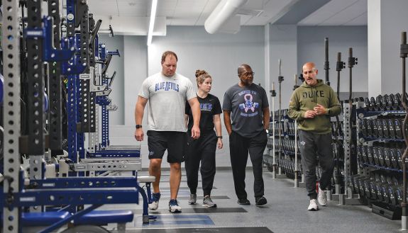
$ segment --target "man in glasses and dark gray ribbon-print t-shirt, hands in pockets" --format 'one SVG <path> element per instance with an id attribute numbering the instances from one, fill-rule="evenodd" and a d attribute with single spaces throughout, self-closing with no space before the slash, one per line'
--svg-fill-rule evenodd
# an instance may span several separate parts
<path id="1" fill-rule="evenodd" d="M 238 67 L 240 81 L 224 95 L 224 123 L 229 135 L 229 152 L 233 183 L 238 204 L 250 205 L 245 191 L 248 152 L 255 178 L 253 190 L 255 205 L 267 203 L 264 195 L 262 162 L 263 151 L 268 143 L 266 129 L 269 127 L 269 103 L 265 89 L 253 84 L 253 71 L 248 64 Z M 232 119 L 232 123 L 231 123 Z"/>

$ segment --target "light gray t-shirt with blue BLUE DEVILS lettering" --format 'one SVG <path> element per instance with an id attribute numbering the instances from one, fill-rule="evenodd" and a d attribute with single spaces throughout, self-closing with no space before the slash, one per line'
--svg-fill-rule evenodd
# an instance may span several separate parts
<path id="1" fill-rule="evenodd" d="M 148 127 L 155 131 L 186 132 L 186 100 L 196 98 L 192 82 L 181 74 L 172 77 L 161 72 L 143 81 L 139 96 L 148 98 Z"/>

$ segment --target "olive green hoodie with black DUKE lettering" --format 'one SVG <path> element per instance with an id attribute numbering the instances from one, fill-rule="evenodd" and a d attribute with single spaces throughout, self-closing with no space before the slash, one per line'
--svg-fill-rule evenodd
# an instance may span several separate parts
<path id="1" fill-rule="evenodd" d="M 307 110 L 313 110 L 317 103 L 326 108 L 326 115 L 304 118 L 304 113 Z M 336 93 L 330 86 L 324 84 L 323 80 L 317 79 L 317 84 L 314 86 L 309 86 L 304 81 L 294 90 L 290 98 L 288 115 L 293 120 L 297 120 L 299 130 L 326 134 L 331 132 L 330 117 L 340 112 Z"/>

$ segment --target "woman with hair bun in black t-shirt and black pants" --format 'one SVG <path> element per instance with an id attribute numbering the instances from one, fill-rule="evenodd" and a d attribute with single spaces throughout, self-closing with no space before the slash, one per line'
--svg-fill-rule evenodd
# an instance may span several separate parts
<path id="1" fill-rule="evenodd" d="M 197 202 L 198 171 L 201 161 L 200 171 L 202 174 L 202 188 L 204 192 L 203 206 L 216 208 L 216 204 L 213 203 L 210 196 L 216 170 L 216 147 L 221 149 L 223 146 L 220 118 L 222 109 L 219 98 L 209 93 L 209 91 L 211 91 L 211 76 L 204 70 L 197 70 L 196 77 L 198 86 L 197 98 L 201 109 L 199 124 L 201 136 L 197 140 L 193 140 L 190 136 L 193 117 L 191 108 L 186 104 L 187 135 L 189 135 L 189 137 L 187 137 L 185 168 L 187 184 L 190 189 L 189 204 L 194 205 Z"/>

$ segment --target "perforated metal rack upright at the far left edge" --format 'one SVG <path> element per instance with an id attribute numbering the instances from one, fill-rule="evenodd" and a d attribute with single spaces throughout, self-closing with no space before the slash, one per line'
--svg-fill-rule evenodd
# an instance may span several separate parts
<path id="1" fill-rule="evenodd" d="M 4 61 L 4 193 L 5 200 L 19 191 L 20 171 L 20 45 L 18 31 L 18 1 L 3 1 L 1 45 Z M 10 193 L 9 193 L 10 191 Z M 3 232 L 17 233 L 20 221 L 19 208 L 3 208 Z"/>

